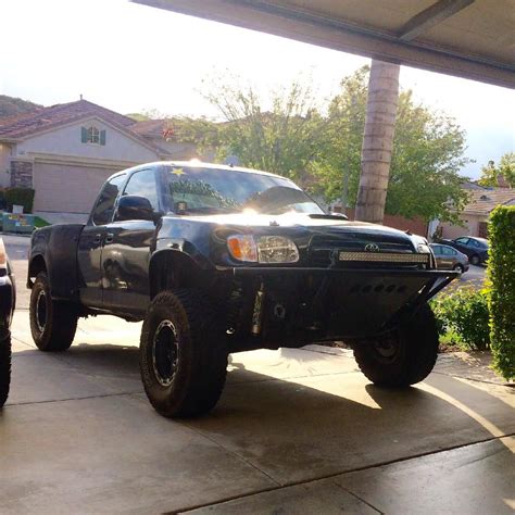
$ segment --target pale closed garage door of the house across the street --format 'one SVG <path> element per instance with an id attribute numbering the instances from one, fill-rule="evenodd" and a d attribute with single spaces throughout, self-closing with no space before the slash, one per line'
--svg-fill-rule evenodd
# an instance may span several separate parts
<path id="1" fill-rule="evenodd" d="M 100 187 L 117 168 L 34 164 L 34 211 L 89 213 Z"/>

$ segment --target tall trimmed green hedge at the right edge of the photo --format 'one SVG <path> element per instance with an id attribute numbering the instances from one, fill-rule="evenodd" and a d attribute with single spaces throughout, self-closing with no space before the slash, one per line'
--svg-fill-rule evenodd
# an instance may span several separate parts
<path id="1" fill-rule="evenodd" d="M 493 367 L 515 378 L 515 205 L 500 205 L 490 216 L 487 274 Z"/>

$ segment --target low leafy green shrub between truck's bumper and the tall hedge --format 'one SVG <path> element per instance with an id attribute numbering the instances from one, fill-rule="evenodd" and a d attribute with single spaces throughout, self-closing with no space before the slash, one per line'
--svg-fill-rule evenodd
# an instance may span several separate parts
<path id="1" fill-rule="evenodd" d="M 482 351 L 490 347 L 488 296 L 485 290 L 461 288 L 431 301 L 440 336 L 456 335 L 466 349 Z"/>

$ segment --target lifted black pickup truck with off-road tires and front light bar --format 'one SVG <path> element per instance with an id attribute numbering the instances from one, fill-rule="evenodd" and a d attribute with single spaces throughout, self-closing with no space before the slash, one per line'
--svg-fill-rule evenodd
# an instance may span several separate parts
<path id="1" fill-rule="evenodd" d="M 285 177 L 194 162 L 113 175 L 88 223 L 37 230 L 29 260 L 37 347 L 67 349 L 80 316 L 143 321 L 141 378 L 165 416 L 210 411 L 242 350 L 343 340 L 375 384 L 420 381 L 438 351 L 427 301 L 457 275 Z"/>

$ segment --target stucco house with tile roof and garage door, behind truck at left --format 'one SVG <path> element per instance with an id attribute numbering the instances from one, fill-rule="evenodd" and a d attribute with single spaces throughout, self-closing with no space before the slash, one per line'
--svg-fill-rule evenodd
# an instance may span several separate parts
<path id="1" fill-rule="evenodd" d="M 113 173 L 197 156 L 193 146 L 166 141 L 163 127 L 164 121 L 135 122 L 83 99 L 1 118 L 0 187 L 34 188 L 34 211 L 49 219 L 85 217 Z"/>

